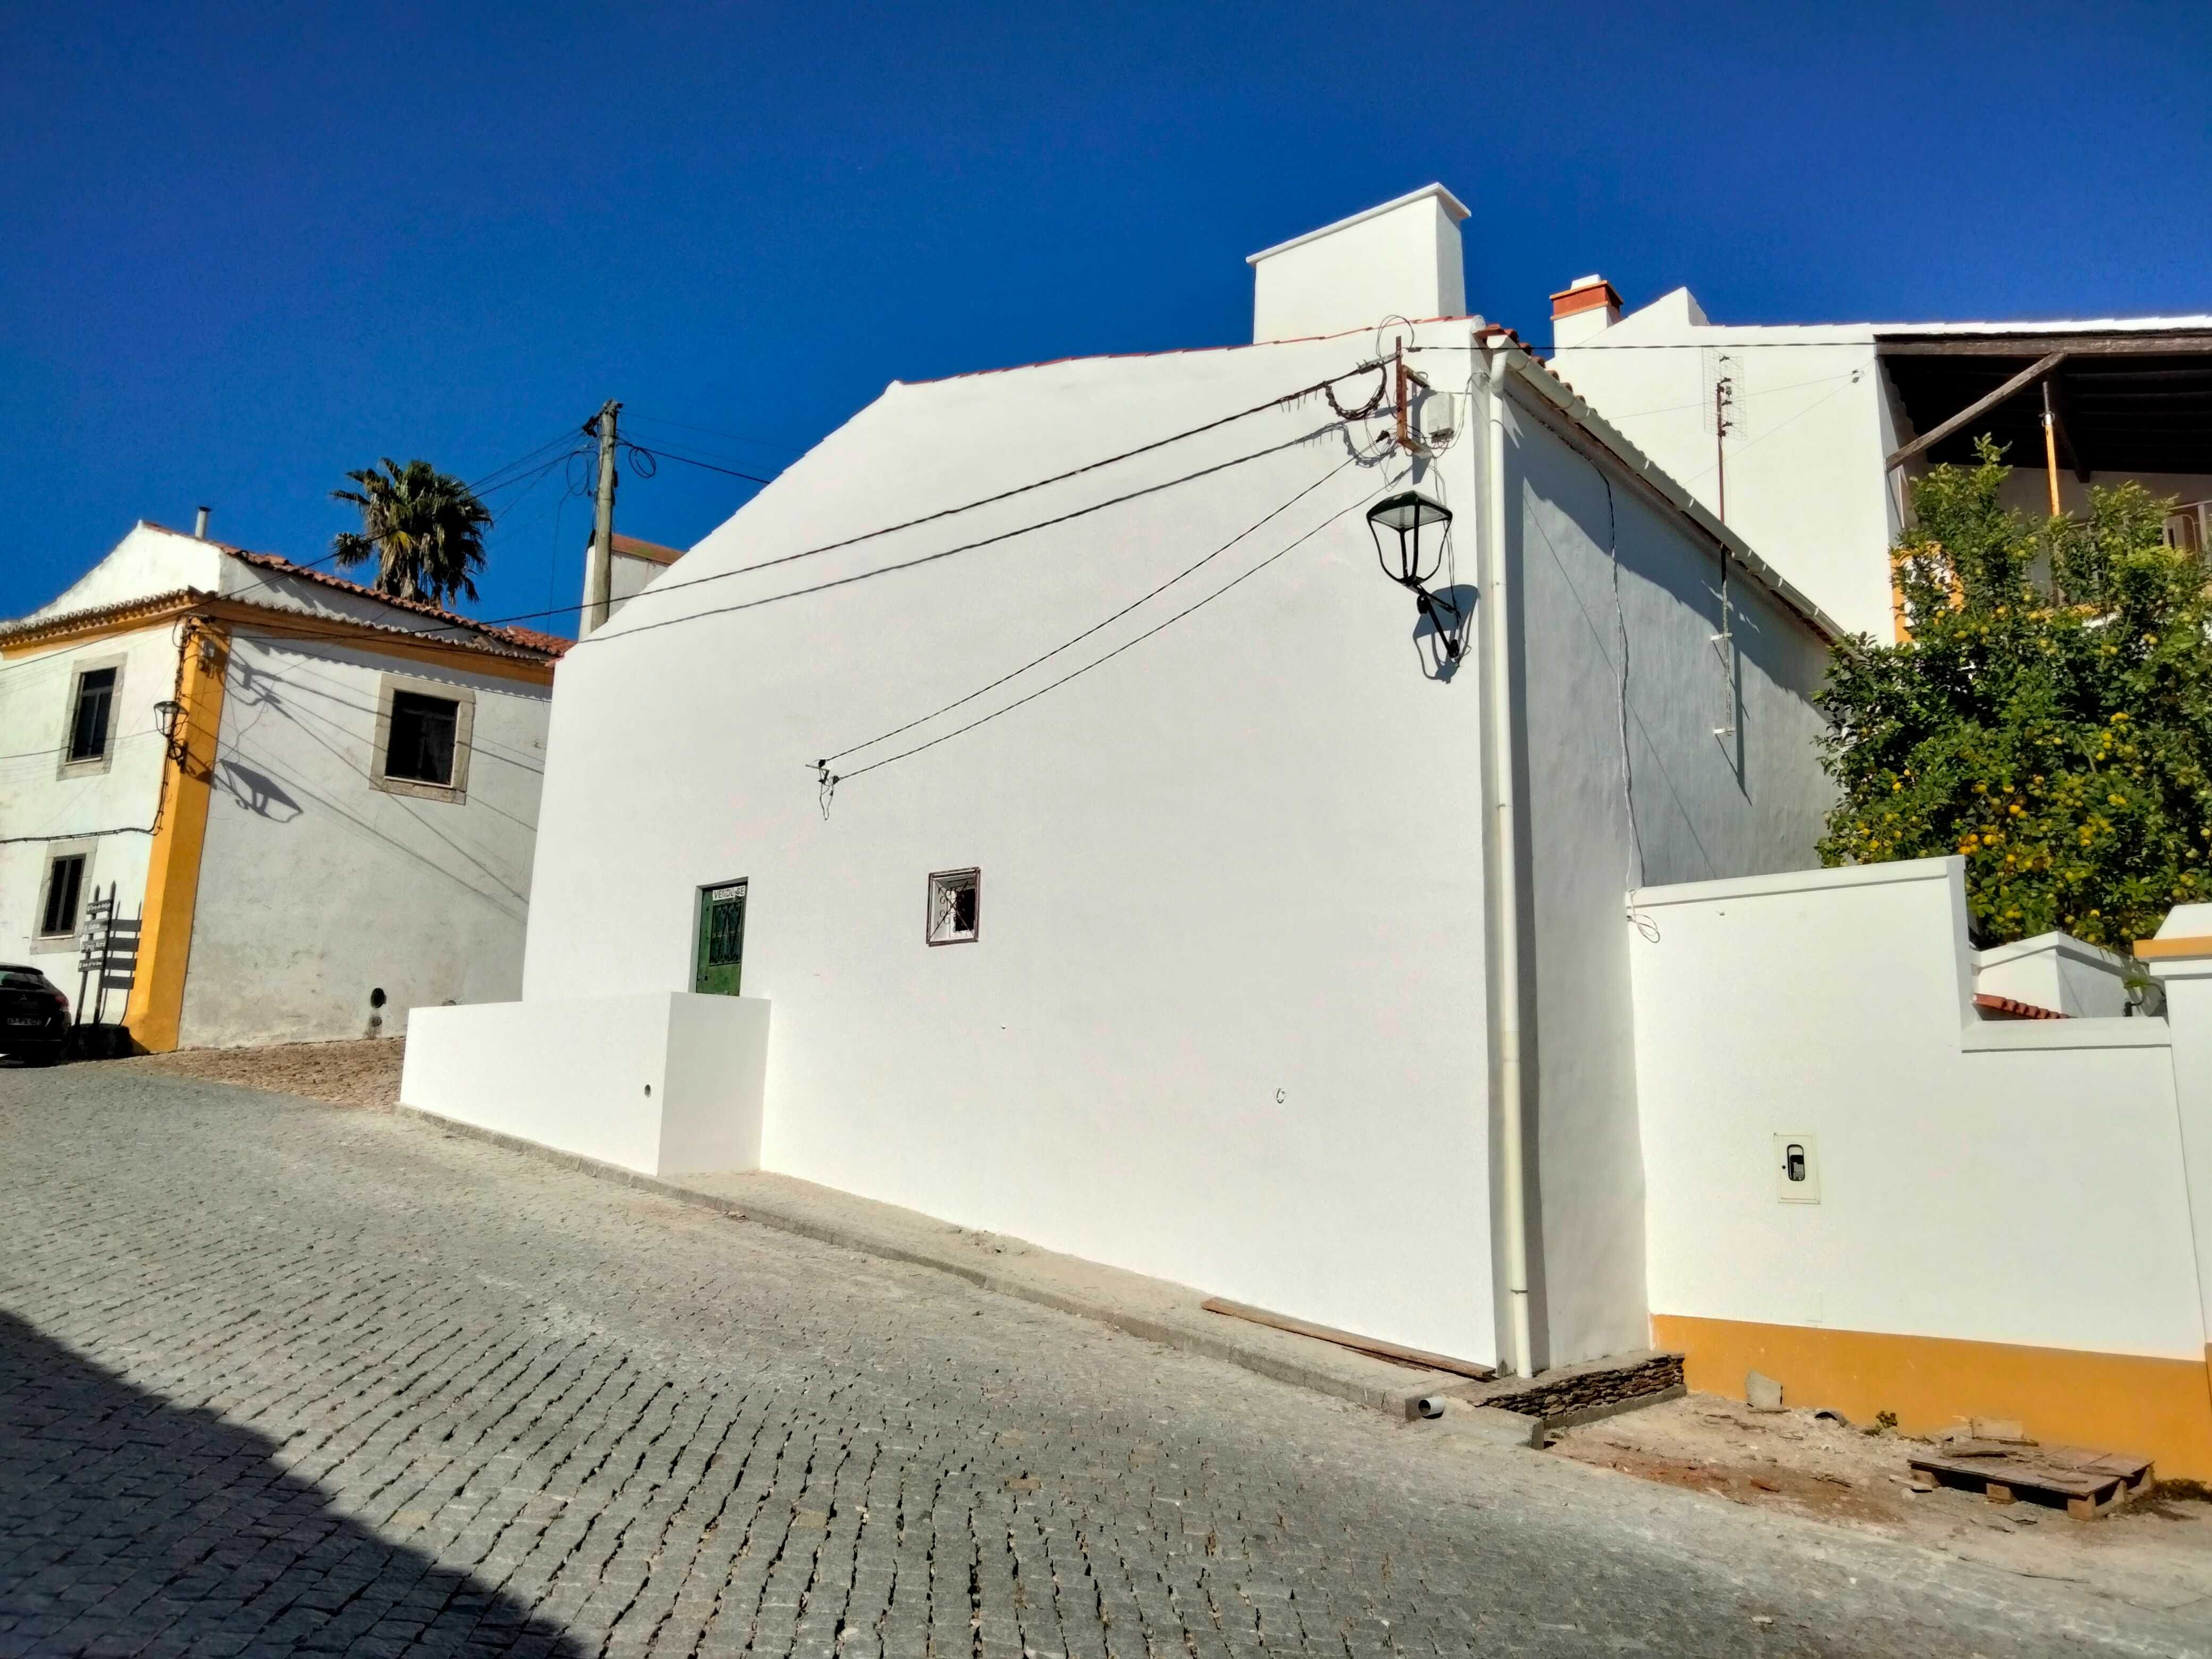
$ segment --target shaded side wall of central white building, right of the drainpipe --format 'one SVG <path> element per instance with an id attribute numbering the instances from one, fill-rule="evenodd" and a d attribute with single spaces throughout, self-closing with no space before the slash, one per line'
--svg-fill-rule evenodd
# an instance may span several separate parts
<path id="1" fill-rule="evenodd" d="M 1588 442 L 1509 409 L 1533 1000 L 1533 1325 L 1544 1363 L 1644 1345 L 1630 887 L 1803 869 L 1834 790 L 1814 739 L 1823 637 Z M 1610 504 L 1606 484 L 1610 482 Z M 1613 546 L 1619 549 L 1615 602 Z M 1628 781 L 1624 787 L 1621 630 Z M 1734 726 L 1734 737 L 1714 728 Z M 1635 801 L 1630 827 L 1628 796 Z"/>

